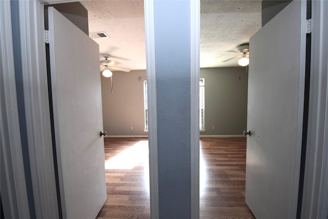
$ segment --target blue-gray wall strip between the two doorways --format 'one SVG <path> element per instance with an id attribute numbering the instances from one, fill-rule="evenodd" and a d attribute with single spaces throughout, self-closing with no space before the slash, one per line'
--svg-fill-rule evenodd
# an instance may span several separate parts
<path id="1" fill-rule="evenodd" d="M 159 218 L 191 217 L 190 4 L 154 1 Z"/>

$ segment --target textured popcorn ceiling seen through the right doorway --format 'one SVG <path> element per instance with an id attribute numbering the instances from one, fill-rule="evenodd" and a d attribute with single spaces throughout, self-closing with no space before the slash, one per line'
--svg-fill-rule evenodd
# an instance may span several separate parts
<path id="1" fill-rule="evenodd" d="M 238 55 L 260 28 L 261 1 L 201 1 L 200 67 L 238 66 L 238 58 L 222 61 Z"/>

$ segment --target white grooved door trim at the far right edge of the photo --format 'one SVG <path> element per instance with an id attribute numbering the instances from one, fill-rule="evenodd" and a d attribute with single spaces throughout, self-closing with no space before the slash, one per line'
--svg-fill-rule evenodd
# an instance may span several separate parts
<path id="1" fill-rule="evenodd" d="M 301 218 L 328 216 L 328 2 L 312 1 L 311 84 Z M 313 24 L 312 24 L 313 25 Z M 313 28 L 313 27 L 312 27 Z"/>

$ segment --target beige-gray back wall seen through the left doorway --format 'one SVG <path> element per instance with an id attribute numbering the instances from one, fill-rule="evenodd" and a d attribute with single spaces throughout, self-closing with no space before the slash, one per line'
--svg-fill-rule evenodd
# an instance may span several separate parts
<path id="1" fill-rule="evenodd" d="M 144 81 L 146 70 L 113 71 L 111 79 L 101 75 L 104 130 L 108 135 L 148 135 L 144 132 Z M 133 130 L 130 127 L 133 127 Z"/>

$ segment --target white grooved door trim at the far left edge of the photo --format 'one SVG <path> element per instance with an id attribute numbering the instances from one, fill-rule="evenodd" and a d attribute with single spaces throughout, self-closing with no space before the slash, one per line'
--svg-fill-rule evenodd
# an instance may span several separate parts
<path id="1" fill-rule="evenodd" d="M 0 1 L 1 186 L 5 217 L 30 218 L 17 108 L 10 1 Z"/>

